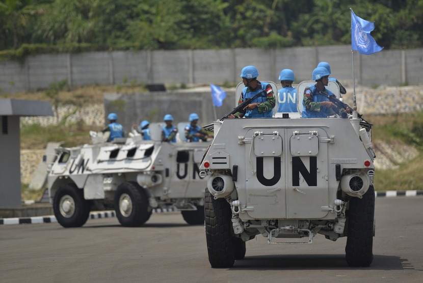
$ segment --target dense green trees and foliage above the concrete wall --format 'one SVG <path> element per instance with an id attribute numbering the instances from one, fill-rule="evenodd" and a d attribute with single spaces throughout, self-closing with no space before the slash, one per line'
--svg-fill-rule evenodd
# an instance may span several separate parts
<path id="1" fill-rule="evenodd" d="M 384 48 L 423 46 L 423 0 L 0 0 L 0 50 L 350 44 L 350 7 Z"/>

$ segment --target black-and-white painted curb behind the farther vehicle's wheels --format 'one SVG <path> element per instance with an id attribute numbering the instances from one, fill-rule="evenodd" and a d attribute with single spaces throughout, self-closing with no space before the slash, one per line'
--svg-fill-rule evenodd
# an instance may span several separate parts
<path id="1" fill-rule="evenodd" d="M 166 213 L 178 211 L 176 208 L 156 208 L 153 209 L 152 214 L 155 213 Z M 88 219 L 100 219 L 100 218 L 111 218 L 116 217 L 114 210 L 91 212 Z M 53 223 L 57 222 L 56 216 L 35 216 L 35 217 L 14 217 L 14 218 L 0 218 L 0 225 L 10 224 L 39 224 L 39 223 Z"/>

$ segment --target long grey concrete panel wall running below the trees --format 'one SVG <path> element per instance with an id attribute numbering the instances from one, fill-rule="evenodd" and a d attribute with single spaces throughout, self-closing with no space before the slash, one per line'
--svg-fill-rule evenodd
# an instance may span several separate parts
<path id="1" fill-rule="evenodd" d="M 45 89 L 67 79 L 70 86 L 127 82 L 164 84 L 223 84 L 240 81 L 246 65 L 258 68 L 261 80 L 277 81 L 282 69 L 294 70 L 296 80 L 308 80 L 321 62 L 331 64 L 332 77 L 351 84 L 350 45 L 283 49 L 142 50 L 40 54 L 23 63 L 0 62 L 1 93 Z M 423 49 L 355 52 L 356 83 L 398 86 L 423 82 Z"/>

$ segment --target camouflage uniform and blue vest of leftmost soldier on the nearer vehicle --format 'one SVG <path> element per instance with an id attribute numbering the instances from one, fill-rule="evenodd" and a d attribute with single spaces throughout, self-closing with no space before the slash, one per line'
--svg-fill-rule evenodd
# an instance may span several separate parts
<path id="1" fill-rule="evenodd" d="M 265 118 L 265 117 L 272 117 L 272 109 L 276 105 L 276 98 L 273 93 L 272 87 L 268 83 L 263 83 L 257 80 L 257 87 L 254 90 L 251 90 L 250 87 L 246 87 L 243 89 L 241 93 L 240 100 L 238 101 L 238 105 L 244 102 L 244 95 L 248 97 L 254 96 L 261 90 L 266 90 L 267 96 L 265 97 L 257 97 L 251 103 L 259 103 L 257 108 L 253 110 L 247 110 L 243 112 L 236 112 L 234 116 L 236 118 Z M 252 94 L 251 94 L 252 93 Z"/>

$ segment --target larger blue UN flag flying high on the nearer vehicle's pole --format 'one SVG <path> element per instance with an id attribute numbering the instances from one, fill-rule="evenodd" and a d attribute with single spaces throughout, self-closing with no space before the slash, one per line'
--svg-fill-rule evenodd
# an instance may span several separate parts
<path id="1" fill-rule="evenodd" d="M 351 49 L 361 54 L 373 54 L 382 50 L 370 32 L 375 29 L 375 23 L 357 17 L 351 9 Z"/>

